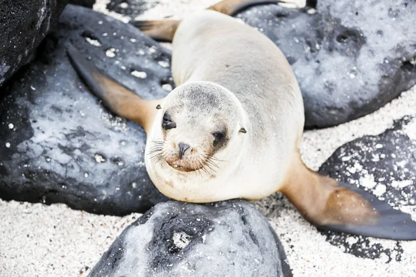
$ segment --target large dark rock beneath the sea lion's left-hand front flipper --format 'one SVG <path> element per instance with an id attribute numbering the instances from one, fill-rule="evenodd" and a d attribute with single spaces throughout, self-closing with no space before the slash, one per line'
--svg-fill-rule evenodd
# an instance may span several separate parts
<path id="1" fill-rule="evenodd" d="M 170 53 L 137 28 L 79 6 L 65 8 L 58 29 L 0 101 L 0 197 L 93 213 L 147 211 L 166 197 L 144 166 L 146 134 L 103 108 L 64 44 L 146 99 L 173 86 Z"/>

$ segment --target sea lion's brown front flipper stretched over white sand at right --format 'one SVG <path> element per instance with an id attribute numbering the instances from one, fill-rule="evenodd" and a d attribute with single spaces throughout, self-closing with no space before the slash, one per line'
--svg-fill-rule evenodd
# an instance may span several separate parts
<path id="1" fill-rule="evenodd" d="M 303 165 L 303 164 L 302 164 Z M 392 240 L 416 240 L 416 222 L 371 193 L 303 168 L 281 190 L 319 229 Z"/>

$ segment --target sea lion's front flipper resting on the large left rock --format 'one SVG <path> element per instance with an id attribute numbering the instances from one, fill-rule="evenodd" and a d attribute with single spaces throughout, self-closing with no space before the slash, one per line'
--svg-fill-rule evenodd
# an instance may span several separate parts
<path id="1" fill-rule="evenodd" d="M 78 51 L 67 45 L 69 60 L 87 87 L 114 114 L 139 123 L 146 132 L 150 130 L 157 113 L 157 105 L 163 99 L 144 100 L 110 77 L 100 73 L 89 60 L 81 57 Z"/>

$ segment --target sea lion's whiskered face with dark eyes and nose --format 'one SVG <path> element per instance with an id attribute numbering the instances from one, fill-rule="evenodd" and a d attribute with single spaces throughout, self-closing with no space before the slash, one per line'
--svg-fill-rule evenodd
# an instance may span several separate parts
<path id="1" fill-rule="evenodd" d="M 149 141 L 152 161 L 180 172 L 215 175 L 224 157 L 235 156 L 233 150 L 245 133 L 242 109 L 233 97 L 207 82 L 173 90 L 154 123 L 160 126 L 160 137 Z"/>

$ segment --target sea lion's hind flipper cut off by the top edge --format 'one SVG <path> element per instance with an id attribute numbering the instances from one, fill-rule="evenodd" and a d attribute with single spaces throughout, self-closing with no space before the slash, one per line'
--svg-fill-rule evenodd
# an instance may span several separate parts
<path id="1" fill-rule="evenodd" d="M 278 4 L 286 3 L 285 1 L 278 0 L 224 0 L 216 3 L 215 5 L 207 8 L 207 10 L 216 10 L 225 15 L 234 16 L 239 12 L 249 8 L 251 6 L 266 5 L 266 4 Z"/>

